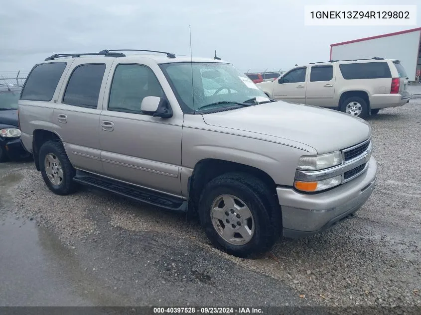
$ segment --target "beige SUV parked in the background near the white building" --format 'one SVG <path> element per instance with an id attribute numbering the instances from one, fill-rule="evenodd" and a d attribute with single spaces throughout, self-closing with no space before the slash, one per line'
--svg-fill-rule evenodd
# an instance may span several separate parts
<path id="1" fill-rule="evenodd" d="M 365 118 L 409 102 L 408 77 L 399 60 L 331 60 L 295 67 L 257 86 L 270 98 L 339 109 Z"/>

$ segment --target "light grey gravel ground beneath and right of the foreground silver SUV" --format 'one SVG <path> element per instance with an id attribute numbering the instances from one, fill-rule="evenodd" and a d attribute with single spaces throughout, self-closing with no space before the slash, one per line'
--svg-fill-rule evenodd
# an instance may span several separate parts
<path id="1" fill-rule="evenodd" d="M 270 276 L 309 305 L 421 306 L 421 98 L 383 109 L 368 121 L 379 167 L 372 197 L 353 219 L 304 239 L 282 239 L 259 259 L 215 250 L 199 223 L 180 214 L 86 188 L 56 196 L 27 166 L 13 167 L 5 176 L 23 179 L 12 188 L 16 215 L 34 217 L 70 247 L 106 239 L 101 233 L 107 228 L 169 235 L 180 248 L 195 244 L 242 270 Z"/>

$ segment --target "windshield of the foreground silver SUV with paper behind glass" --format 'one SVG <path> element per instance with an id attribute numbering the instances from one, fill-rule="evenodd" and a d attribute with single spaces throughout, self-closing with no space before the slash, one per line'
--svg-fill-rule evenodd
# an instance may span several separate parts
<path id="1" fill-rule="evenodd" d="M 227 107 L 227 102 L 243 103 L 253 98 L 268 97 L 243 73 L 227 63 L 168 63 L 160 65 L 185 113 Z M 193 71 L 192 71 L 193 68 Z M 192 86 L 193 72 L 193 86 Z M 193 93 L 194 90 L 194 108 Z M 237 106 L 233 104 L 233 106 Z"/>

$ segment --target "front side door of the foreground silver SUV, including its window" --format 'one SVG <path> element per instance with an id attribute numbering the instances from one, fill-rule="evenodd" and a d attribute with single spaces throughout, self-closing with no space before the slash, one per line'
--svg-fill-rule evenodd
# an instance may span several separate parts
<path id="1" fill-rule="evenodd" d="M 100 117 L 101 160 L 111 178 L 180 196 L 183 114 L 161 118 L 140 110 L 146 96 L 166 98 L 152 67 L 113 66 Z"/>

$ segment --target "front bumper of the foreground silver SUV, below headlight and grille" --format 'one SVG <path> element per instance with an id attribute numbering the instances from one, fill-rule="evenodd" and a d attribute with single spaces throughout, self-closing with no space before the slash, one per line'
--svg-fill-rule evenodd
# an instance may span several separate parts
<path id="1" fill-rule="evenodd" d="M 292 188 L 278 187 L 283 236 L 303 237 L 315 234 L 354 213 L 371 196 L 376 174 L 377 163 L 371 157 L 366 172 L 324 193 L 308 195 Z"/>

